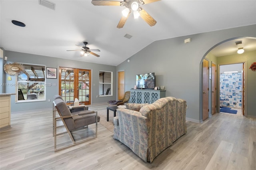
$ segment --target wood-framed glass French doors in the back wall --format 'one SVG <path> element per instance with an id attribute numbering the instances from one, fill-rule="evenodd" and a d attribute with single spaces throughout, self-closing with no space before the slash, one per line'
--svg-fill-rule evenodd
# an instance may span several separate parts
<path id="1" fill-rule="evenodd" d="M 91 104 L 91 70 L 59 67 L 59 77 L 59 95 L 64 101 L 77 98 L 84 105 Z"/>

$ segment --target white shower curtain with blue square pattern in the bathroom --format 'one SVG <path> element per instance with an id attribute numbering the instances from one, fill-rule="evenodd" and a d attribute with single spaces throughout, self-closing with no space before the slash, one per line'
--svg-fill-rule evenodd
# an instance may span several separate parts
<path id="1" fill-rule="evenodd" d="M 220 73 L 220 106 L 242 108 L 242 72 Z"/>

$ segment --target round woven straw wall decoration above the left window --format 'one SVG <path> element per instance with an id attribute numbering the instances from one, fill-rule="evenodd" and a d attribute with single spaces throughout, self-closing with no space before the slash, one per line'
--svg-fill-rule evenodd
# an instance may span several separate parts
<path id="1" fill-rule="evenodd" d="M 4 72 L 8 75 L 21 75 L 23 74 L 24 67 L 20 63 L 5 63 Z"/>

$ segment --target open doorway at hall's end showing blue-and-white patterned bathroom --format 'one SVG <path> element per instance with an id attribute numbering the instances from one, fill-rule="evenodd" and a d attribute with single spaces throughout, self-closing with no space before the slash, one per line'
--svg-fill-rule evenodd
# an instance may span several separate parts
<path id="1" fill-rule="evenodd" d="M 244 115 L 244 63 L 220 65 L 220 112 Z"/>

